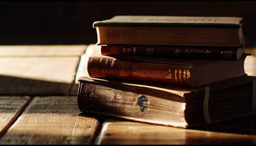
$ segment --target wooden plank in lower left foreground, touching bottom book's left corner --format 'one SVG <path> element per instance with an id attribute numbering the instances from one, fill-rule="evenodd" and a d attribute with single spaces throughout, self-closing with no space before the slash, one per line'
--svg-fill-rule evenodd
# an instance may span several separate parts
<path id="1" fill-rule="evenodd" d="M 90 144 L 99 121 L 79 115 L 77 97 L 34 97 L 0 144 Z"/>

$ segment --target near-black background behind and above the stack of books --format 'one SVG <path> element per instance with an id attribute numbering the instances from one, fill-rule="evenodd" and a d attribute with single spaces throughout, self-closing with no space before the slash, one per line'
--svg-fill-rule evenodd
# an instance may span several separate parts
<path id="1" fill-rule="evenodd" d="M 94 44 L 94 21 L 115 15 L 243 17 L 244 35 L 255 46 L 256 2 L 122 1 L 0 2 L 0 44 Z"/>

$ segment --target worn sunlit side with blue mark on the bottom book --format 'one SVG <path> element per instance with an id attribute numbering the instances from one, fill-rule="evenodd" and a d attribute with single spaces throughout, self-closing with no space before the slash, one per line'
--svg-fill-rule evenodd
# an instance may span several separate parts
<path id="1" fill-rule="evenodd" d="M 147 95 L 134 93 L 133 88 L 80 81 L 77 98 L 79 110 L 137 122 L 183 128 L 188 126 L 184 117 L 184 102 L 158 98 L 151 95 L 151 90 L 146 91 Z M 143 89 L 140 92 L 145 93 Z M 164 92 L 160 95 L 171 96 Z"/>

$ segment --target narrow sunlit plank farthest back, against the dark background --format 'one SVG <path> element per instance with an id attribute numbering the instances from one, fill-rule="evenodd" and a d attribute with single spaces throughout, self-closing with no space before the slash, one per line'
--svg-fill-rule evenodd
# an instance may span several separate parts
<path id="1" fill-rule="evenodd" d="M 81 56 L 87 45 L 0 45 L 0 57 Z"/>

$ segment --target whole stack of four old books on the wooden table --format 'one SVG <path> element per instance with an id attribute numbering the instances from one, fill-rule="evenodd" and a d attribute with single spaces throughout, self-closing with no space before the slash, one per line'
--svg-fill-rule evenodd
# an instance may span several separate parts
<path id="1" fill-rule="evenodd" d="M 94 22 L 102 55 L 90 56 L 90 77 L 79 78 L 80 111 L 183 128 L 254 114 L 242 22 L 181 16 Z"/>

